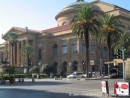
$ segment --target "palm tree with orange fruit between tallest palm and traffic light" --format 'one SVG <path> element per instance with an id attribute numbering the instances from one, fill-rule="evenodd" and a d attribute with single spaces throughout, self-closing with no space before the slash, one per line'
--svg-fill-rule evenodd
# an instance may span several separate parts
<path id="1" fill-rule="evenodd" d="M 110 49 L 112 43 L 117 42 L 117 39 L 120 36 L 121 29 L 124 26 L 118 20 L 117 17 L 110 14 L 105 14 L 104 18 L 101 20 L 102 27 L 100 28 L 99 40 L 100 42 L 107 44 L 108 47 L 108 61 L 110 60 Z M 108 65 L 109 66 L 109 65 Z M 109 75 L 109 67 L 108 67 L 108 75 Z"/>

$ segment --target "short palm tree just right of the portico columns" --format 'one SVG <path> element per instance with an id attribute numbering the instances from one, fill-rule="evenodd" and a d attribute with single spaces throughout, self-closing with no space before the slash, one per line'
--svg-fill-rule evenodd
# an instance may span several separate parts
<path id="1" fill-rule="evenodd" d="M 31 45 L 25 45 L 24 47 L 22 47 L 21 48 L 21 56 L 27 57 L 27 61 L 28 61 L 27 72 L 29 73 L 29 66 L 31 66 L 31 58 L 33 56 L 33 47 Z"/>

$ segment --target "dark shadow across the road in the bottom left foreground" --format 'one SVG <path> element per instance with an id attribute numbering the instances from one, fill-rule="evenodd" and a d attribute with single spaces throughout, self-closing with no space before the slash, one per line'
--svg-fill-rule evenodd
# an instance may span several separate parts
<path id="1" fill-rule="evenodd" d="M 54 93 L 46 90 L 0 88 L 0 98 L 99 98 L 67 93 Z"/>

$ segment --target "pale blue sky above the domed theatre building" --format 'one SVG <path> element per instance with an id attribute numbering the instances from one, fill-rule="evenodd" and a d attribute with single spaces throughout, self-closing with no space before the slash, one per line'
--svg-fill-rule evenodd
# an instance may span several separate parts
<path id="1" fill-rule="evenodd" d="M 77 0 L 0 0 L 0 37 L 11 27 L 44 30 L 57 26 L 55 16 Z M 85 0 L 92 2 L 93 0 Z M 130 10 L 130 0 L 102 0 Z M 4 41 L 0 38 L 0 43 Z"/>

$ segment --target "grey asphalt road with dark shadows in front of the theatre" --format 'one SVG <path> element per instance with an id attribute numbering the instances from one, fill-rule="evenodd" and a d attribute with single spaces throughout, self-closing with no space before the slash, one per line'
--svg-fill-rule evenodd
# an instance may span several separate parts
<path id="1" fill-rule="evenodd" d="M 117 80 L 108 79 L 110 94 L 113 94 L 114 81 Z M 0 98 L 105 98 L 102 97 L 100 82 L 84 79 L 35 79 L 32 82 L 25 79 L 24 83 L 1 84 Z"/>

